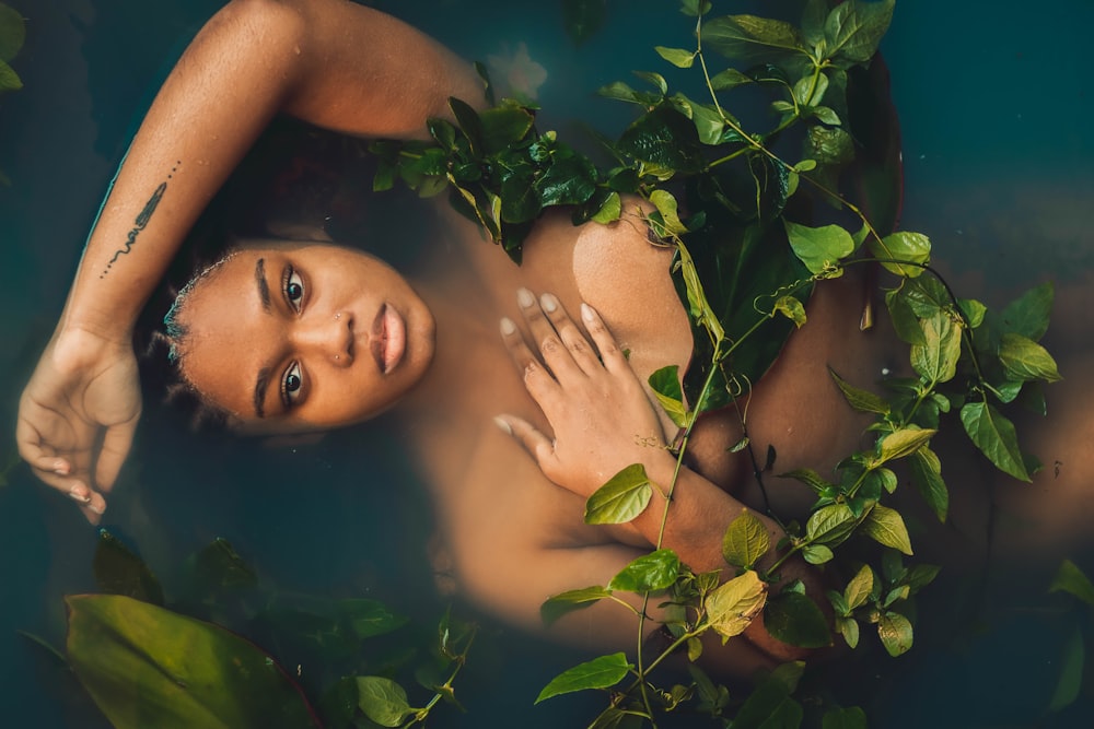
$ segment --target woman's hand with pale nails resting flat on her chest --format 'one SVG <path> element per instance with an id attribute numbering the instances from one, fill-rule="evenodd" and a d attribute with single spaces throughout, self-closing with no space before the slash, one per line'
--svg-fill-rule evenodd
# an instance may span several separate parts
<path id="1" fill-rule="evenodd" d="M 594 350 L 555 296 L 544 294 L 537 304 L 522 289 L 517 301 L 542 361 L 509 319 L 501 333 L 555 437 L 513 415 L 500 415 L 498 424 L 524 444 L 544 474 L 589 497 L 631 463 L 672 459 L 653 404 L 600 315 L 582 304 Z"/>

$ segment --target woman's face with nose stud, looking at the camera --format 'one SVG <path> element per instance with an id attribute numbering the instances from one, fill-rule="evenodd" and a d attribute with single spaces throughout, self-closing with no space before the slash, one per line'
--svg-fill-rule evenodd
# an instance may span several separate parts
<path id="1" fill-rule="evenodd" d="M 360 422 L 389 408 L 433 356 L 433 317 L 372 256 L 316 243 L 256 242 L 197 281 L 179 305 L 183 375 L 244 431 Z"/>

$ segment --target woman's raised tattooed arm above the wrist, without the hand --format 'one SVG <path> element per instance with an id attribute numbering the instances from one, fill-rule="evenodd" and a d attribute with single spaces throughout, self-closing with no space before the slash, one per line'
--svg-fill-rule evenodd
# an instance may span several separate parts
<path id="1" fill-rule="evenodd" d="M 469 66 L 404 23 L 341 0 L 236 0 L 156 95 L 89 239 L 60 330 L 128 342 L 194 221 L 270 118 L 420 137 Z"/>

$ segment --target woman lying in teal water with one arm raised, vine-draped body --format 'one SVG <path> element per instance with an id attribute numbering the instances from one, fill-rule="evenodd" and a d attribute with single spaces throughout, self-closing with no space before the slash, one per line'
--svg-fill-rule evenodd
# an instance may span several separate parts
<path id="1" fill-rule="evenodd" d="M 236 0 L 218 13 L 133 140 L 23 393 L 18 437 L 35 472 L 89 519 L 105 509 L 140 414 L 137 311 L 275 113 L 411 138 L 426 117 L 445 114 L 450 96 L 481 96 L 473 71 L 369 9 Z M 606 584 L 648 551 L 666 507 L 654 498 L 630 524 L 591 527 L 584 499 L 631 463 L 656 484 L 675 470 L 675 426 L 645 381 L 665 365 L 686 368 L 687 315 L 668 275 L 671 251 L 650 244 L 641 205 L 628 208 L 610 226 L 545 216 L 521 267 L 445 212 L 440 252 L 409 280 L 342 248 L 245 242 L 173 311 L 179 372 L 244 432 L 326 430 L 392 409 L 430 485 L 457 588 L 512 623 L 540 627 L 548 596 Z M 869 383 L 891 362 L 891 339 L 859 330 L 860 292 L 850 278 L 818 287 L 810 324 L 755 388 L 749 437 L 775 449 L 780 471 L 829 469 L 859 440 L 863 422 L 827 366 Z M 812 411 L 801 412 L 802 402 Z M 754 501 L 750 465 L 726 451 L 740 435 L 729 413 L 705 419 L 677 480 L 664 545 L 696 572 L 725 566 L 722 532 Z M 799 495 L 777 492 L 777 510 Z M 776 544 L 781 530 L 765 525 Z M 818 591 L 804 563 L 788 563 L 781 576 Z M 635 627 L 617 610 L 597 604 L 551 630 L 630 646 Z M 733 670 L 800 655 L 760 623 L 719 649 Z"/>

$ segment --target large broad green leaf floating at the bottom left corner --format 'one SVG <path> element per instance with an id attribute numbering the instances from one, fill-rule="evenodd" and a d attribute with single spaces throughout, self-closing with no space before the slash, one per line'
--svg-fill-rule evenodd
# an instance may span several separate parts
<path id="1" fill-rule="evenodd" d="M 284 671 L 237 635 L 121 596 L 65 602 L 69 663 L 117 729 L 318 726 Z"/>

